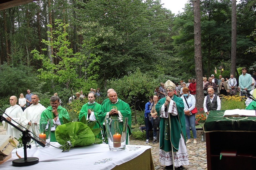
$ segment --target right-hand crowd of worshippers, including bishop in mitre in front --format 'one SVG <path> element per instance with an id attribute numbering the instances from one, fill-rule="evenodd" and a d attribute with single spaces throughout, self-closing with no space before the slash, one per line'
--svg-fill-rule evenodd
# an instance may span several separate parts
<path id="1" fill-rule="evenodd" d="M 236 95 L 238 90 L 240 96 L 250 94 L 256 99 L 256 91 L 254 92 L 256 72 L 253 73 L 253 76 L 246 72 L 247 69 L 245 67 L 242 68 L 239 81 L 233 74 L 230 75 L 230 78 L 223 78 L 222 75 L 219 75 L 219 79 L 217 79 L 214 74 L 211 74 L 208 78 L 206 76 L 202 78 L 203 110 L 206 118 L 209 111 L 221 110 L 220 95 Z M 153 130 L 152 143 L 156 143 L 155 132 L 157 128 L 152 126 L 154 125 L 154 119 L 152 118 L 160 119 L 159 161 L 166 166 L 165 169 L 173 169 L 174 166 L 178 169 L 183 169 L 183 165 L 189 164 L 186 144 L 192 142 L 190 128 L 193 134 L 193 144 L 197 144 L 195 98 L 196 80 L 194 78 L 188 79 L 187 83 L 183 80 L 180 80 L 179 83 L 173 83 L 168 80 L 165 83 L 161 82 L 160 87 L 155 88 L 154 96 L 151 96 L 149 102 L 145 105 L 145 127 L 139 127 L 139 129 L 142 132 L 146 131 L 146 143 L 149 143 L 149 131 Z M 154 99 L 159 101 L 157 102 Z M 245 102 L 246 109 L 256 110 L 256 103 L 252 101 L 253 99 L 247 98 Z"/>

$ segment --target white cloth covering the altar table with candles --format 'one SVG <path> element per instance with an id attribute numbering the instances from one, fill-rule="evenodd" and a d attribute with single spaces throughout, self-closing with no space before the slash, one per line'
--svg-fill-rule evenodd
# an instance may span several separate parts
<path id="1" fill-rule="evenodd" d="M 57 142 L 51 142 L 54 146 L 61 146 Z M 61 149 L 52 146 L 48 148 L 35 148 L 33 144 L 31 149 L 27 149 L 27 157 L 39 158 L 39 163 L 30 166 L 14 167 L 12 161 L 18 159 L 16 153 L 12 153 L 12 158 L 0 165 L 0 169 L 24 169 L 24 170 L 51 170 L 51 169 L 86 169 L 86 170 L 107 170 L 116 165 L 121 165 L 130 161 L 151 146 L 126 145 L 123 151 L 110 151 L 108 144 L 93 144 L 85 147 L 78 147 L 62 152 Z M 13 150 L 14 151 L 14 150 Z M 17 149 L 18 154 L 24 158 L 23 148 Z M 149 159 L 149 158 L 145 158 Z M 138 168 L 138 167 L 137 167 Z"/>

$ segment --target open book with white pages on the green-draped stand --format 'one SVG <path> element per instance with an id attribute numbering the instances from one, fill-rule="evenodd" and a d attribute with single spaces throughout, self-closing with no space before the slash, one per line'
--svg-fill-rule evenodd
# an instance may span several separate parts
<path id="1" fill-rule="evenodd" d="M 256 116 L 255 110 L 233 109 L 225 110 L 223 117 Z"/>

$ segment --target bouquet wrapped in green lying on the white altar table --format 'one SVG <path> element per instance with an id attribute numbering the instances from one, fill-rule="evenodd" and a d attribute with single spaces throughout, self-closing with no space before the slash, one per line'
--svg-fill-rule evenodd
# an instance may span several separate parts
<path id="1" fill-rule="evenodd" d="M 60 147 L 63 149 L 62 152 L 69 151 L 71 147 L 87 146 L 102 141 L 95 138 L 102 129 L 92 129 L 96 121 L 90 122 L 87 125 L 88 122 L 89 120 L 85 121 L 86 124 L 82 122 L 69 122 L 57 126 L 55 131 L 56 141 L 62 145 Z"/>

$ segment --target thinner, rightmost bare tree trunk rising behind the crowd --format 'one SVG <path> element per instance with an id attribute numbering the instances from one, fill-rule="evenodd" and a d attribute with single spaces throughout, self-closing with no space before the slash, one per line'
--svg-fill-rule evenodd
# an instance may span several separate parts
<path id="1" fill-rule="evenodd" d="M 232 0 L 232 35 L 231 35 L 231 66 L 230 74 L 236 77 L 236 43 L 237 43 L 237 14 L 236 14 L 236 0 Z"/>

